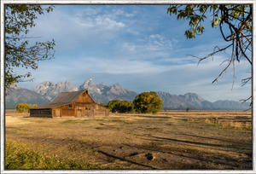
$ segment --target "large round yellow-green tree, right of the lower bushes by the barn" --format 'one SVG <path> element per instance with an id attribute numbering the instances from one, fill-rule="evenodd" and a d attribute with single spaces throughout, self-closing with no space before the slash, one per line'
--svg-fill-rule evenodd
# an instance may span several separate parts
<path id="1" fill-rule="evenodd" d="M 137 113 L 158 113 L 163 108 L 162 104 L 162 100 L 154 91 L 143 92 L 133 101 Z"/>

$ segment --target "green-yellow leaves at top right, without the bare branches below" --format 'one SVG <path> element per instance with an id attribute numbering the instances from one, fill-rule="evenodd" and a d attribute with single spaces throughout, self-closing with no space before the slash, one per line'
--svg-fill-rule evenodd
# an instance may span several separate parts
<path id="1" fill-rule="evenodd" d="M 211 25 L 217 27 L 220 23 L 228 22 L 228 20 L 236 20 L 241 16 L 247 16 L 249 5 L 218 5 L 218 4 L 188 4 L 188 5 L 170 5 L 167 14 L 176 14 L 177 20 L 189 20 L 189 30 L 185 32 L 187 38 L 195 38 L 195 34 L 205 32 L 202 22 L 207 19 L 207 12 L 212 13 Z M 223 12 L 227 11 L 226 15 Z M 244 29 L 252 28 L 252 22 L 247 22 Z"/>

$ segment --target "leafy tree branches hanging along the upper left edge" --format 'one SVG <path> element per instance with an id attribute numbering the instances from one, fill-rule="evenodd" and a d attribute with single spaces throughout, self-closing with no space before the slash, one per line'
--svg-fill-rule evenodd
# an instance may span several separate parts
<path id="1" fill-rule="evenodd" d="M 31 73 L 18 75 L 14 67 L 38 68 L 38 61 L 54 58 L 55 40 L 46 42 L 29 43 L 26 34 L 29 28 L 36 26 L 37 14 L 44 14 L 44 11 L 53 11 L 54 6 L 46 9 L 41 5 L 9 4 L 5 5 L 4 19 L 4 59 L 5 59 L 5 89 L 11 90 L 11 84 L 25 81 Z M 32 80 L 32 79 L 28 79 Z"/>

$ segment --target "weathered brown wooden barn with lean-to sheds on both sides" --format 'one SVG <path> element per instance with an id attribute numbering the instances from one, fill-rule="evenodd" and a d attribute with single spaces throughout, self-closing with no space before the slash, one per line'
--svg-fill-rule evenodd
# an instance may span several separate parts
<path id="1" fill-rule="evenodd" d="M 108 117 L 108 107 L 94 102 L 88 90 L 63 92 L 47 105 L 30 108 L 30 117 Z"/>

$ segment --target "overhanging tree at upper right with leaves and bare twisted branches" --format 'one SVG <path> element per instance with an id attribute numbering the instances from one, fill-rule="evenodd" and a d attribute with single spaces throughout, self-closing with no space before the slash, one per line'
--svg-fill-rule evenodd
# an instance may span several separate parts
<path id="1" fill-rule="evenodd" d="M 207 13 L 210 13 L 207 15 Z M 253 21 L 253 5 L 252 4 L 187 4 L 187 5 L 170 5 L 167 14 L 177 15 L 177 20 L 189 20 L 189 29 L 185 31 L 187 38 L 195 38 L 195 35 L 201 35 L 205 32 L 203 22 L 207 16 L 211 18 L 212 27 L 217 28 L 228 44 L 224 48 L 216 46 L 212 53 L 205 57 L 196 57 L 201 61 L 212 58 L 217 53 L 230 50 L 231 55 L 227 60 L 227 66 L 219 73 L 212 83 L 218 82 L 218 78 L 229 68 L 234 68 L 233 85 L 235 81 L 235 63 L 245 60 L 252 67 L 252 21 Z M 241 85 L 247 84 L 251 77 L 241 79 Z M 233 88 L 232 85 L 232 88 Z M 242 100 L 246 102 L 249 98 Z M 251 102 L 252 105 L 252 102 Z"/>

